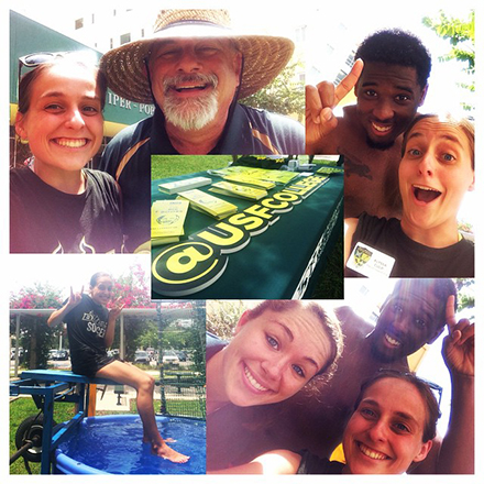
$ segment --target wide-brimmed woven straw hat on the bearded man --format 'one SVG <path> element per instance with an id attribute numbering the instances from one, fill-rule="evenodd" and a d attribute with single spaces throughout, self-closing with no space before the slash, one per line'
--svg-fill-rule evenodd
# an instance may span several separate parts
<path id="1" fill-rule="evenodd" d="M 153 43 L 165 38 L 194 37 L 230 38 L 243 54 L 239 98 L 245 98 L 270 84 L 294 52 L 289 38 L 237 34 L 230 28 L 227 10 L 162 10 L 152 37 L 113 48 L 102 56 L 101 69 L 108 77 L 110 89 L 131 101 L 152 103 L 145 58 Z"/>

